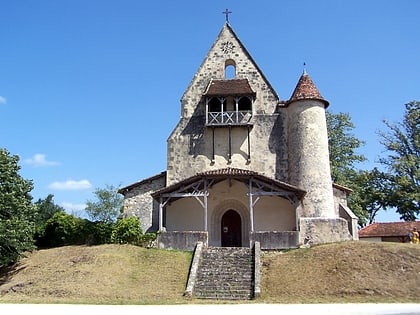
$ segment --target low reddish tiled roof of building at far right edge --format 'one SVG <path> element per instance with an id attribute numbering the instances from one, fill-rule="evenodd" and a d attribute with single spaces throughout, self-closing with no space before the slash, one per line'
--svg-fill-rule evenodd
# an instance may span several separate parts
<path id="1" fill-rule="evenodd" d="M 420 221 L 372 223 L 359 231 L 359 238 L 407 236 L 416 227 L 420 231 Z"/>

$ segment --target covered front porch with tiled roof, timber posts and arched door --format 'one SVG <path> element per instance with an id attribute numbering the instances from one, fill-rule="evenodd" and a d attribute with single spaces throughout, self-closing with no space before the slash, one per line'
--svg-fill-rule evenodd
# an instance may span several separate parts
<path id="1" fill-rule="evenodd" d="M 243 169 L 197 174 L 153 194 L 159 201 L 158 246 L 294 248 L 305 192 Z"/>

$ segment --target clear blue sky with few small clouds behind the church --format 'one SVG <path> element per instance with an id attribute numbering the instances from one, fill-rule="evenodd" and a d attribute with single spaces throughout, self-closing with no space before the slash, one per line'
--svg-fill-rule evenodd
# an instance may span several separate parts
<path id="1" fill-rule="evenodd" d="M 20 156 L 35 200 L 81 214 L 95 188 L 165 170 L 179 100 L 226 8 L 280 98 L 305 62 L 366 142 L 362 167 L 377 166 L 382 121 L 420 100 L 420 1 L 0 0 L 0 147 Z"/>

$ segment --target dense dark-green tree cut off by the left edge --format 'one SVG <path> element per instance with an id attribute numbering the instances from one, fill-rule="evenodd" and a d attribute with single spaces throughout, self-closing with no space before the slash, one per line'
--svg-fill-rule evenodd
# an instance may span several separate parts
<path id="1" fill-rule="evenodd" d="M 17 155 L 0 149 L 0 266 L 34 248 L 33 184 L 21 177 L 18 162 Z"/>

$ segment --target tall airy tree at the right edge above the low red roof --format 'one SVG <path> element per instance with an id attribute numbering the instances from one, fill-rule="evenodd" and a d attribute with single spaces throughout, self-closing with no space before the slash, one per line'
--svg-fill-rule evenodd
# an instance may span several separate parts
<path id="1" fill-rule="evenodd" d="M 402 122 L 384 124 L 388 131 L 379 136 L 388 156 L 380 162 L 390 175 L 390 205 L 401 219 L 414 221 L 420 213 L 420 102 L 405 105 Z"/>

